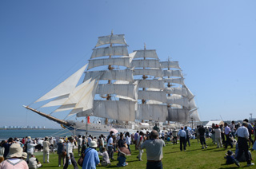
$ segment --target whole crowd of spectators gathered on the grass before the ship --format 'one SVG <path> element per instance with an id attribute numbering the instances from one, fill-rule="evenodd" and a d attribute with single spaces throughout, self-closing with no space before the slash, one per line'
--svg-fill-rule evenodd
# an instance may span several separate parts
<path id="1" fill-rule="evenodd" d="M 252 139 L 255 128 L 243 120 L 242 124 L 225 123 L 218 126 L 212 124 L 211 128 L 198 125 L 197 128 L 181 127 L 179 130 L 159 131 L 157 126 L 151 132 L 137 131 L 135 133 L 114 133 L 110 132 L 108 136 L 100 135 L 98 139 L 94 136 L 71 136 L 63 138 L 45 137 L 44 139 L 31 139 L 30 136 L 22 140 L 10 138 L 3 140 L 0 145 L 0 169 L 15 168 L 39 168 L 42 163 L 50 163 L 50 152 L 58 154 L 58 167 L 66 169 L 73 165 L 78 169 L 80 165 L 83 169 L 96 168 L 97 165 L 108 166 L 111 161 L 118 160 L 118 167 L 125 167 L 126 155 L 131 154 L 130 144 L 134 144 L 135 150 L 138 150 L 137 158 L 142 161 L 143 149 L 146 149 L 146 168 L 162 169 L 162 147 L 166 143 L 180 143 L 180 151 L 186 151 L 190 147 L 190 139 L 197 139 L 201 143 L 202 149 L 207 148 L 206 138 L 211 138 L 214 144 L 219 147 L 236 147 L 235 153 L 227 151 L 226 163 L 235 163 L 240 166 L 241 161 L 246 161 L 248 166 L 251 163 L 250 145 L 256 144 Z M 236 139 L 238 141 L 236 141 Z M 200 140 L 200 142 L 199 142 Z M 249 141 L 249 144 L 247 143 Z M 74 159 L 74 147 L 78 147 L 77 161 Z M 97 151 L 98 148 L 98 151 Z M 43 155 L 42 163 L 34 155 L 35 151 L 41 151 Z M 114 152 L 118 153 L 118 158 L 114 159 Z M 102 160 L 99 159 L 102 156 Z"/>

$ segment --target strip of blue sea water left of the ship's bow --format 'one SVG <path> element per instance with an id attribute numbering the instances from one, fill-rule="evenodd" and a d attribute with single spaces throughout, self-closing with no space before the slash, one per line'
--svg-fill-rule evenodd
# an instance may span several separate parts
<path id="1" fill-rule="evenodd" d="M 63 137 L 71 136 L 69 130 L 63 129 L 9 129 L 0 130 L 0 140 L 8 140 L 10 137 L 23 138 L 30 136 L 31 138 L 43 138 L 45 136 Z"/>

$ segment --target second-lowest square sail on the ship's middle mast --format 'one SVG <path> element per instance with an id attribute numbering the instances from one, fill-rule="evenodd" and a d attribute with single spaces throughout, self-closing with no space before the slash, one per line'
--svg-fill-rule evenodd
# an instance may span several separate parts
<path id="1" fill-rule="evenodd" d="M 166 93 L 162 91 L 138 91 L 139 100 L 156 100 L 166 103 Z"/>

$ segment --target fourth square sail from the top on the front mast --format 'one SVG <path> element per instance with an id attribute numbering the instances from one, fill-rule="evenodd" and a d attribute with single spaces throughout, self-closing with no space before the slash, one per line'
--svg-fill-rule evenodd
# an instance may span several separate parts
<path id="1" fill-rule="evenodd" d="M 98 80 L 120 80 L 120 81 L 134 81 L 132 70 L 102 70 L 102 71 L 88 71 L 84 81 L 88 79 Z"/>

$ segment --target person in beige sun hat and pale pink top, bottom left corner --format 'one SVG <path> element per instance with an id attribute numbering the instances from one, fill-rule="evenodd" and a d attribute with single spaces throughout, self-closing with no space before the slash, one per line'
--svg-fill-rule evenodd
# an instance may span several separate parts
<path id="1" fill-rule="evenodd" d="M 22 157 L 22 147 L 19 143 L 13 143 L 10 146 L 9 154 L 6 156 L 6 160 L 0 163 L 1 169 L 28 169 L 26 161 L 20 159 Z"/>

